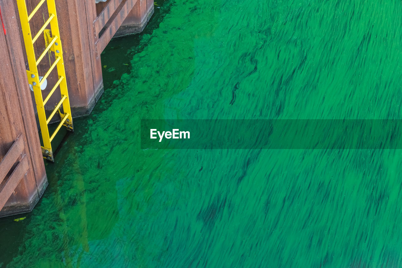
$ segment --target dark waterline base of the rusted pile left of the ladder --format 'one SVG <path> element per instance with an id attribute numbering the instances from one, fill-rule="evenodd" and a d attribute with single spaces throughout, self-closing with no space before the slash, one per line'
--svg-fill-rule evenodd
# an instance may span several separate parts
<path id="1" fill-rule="evenodd" d="M 33 196 L 31 197 L 31 200 L 29 200 L 27 203 L 21 201 L 21 202 L 6 204 L 3 207 L 3 209 L 0 211 L 0 218 L 17 215 L 17 214 L 21 214 L 21 213 L 31 212 L 32 209 L 35 207 L 35 205 L 38 203 L 39 199 L 42 197 L 48 184 L 49 183 L 47 182 L 47 176 L 45 176 L 45 178 L 43 178 L 42 185 L 38 186 L 38 192 L 33 194 Z"/>

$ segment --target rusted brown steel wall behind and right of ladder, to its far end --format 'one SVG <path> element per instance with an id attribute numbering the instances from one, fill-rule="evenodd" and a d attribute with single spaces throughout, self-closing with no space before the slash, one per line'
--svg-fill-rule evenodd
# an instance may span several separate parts
<path id="1" fill-rule="evenodd" d="M 28 13 L 39 2 L 40 0 L 26 0 Z M 154 12 L 154 2 L 153 0 L 108 0 L 95 4 L 94 0 L 65 0 L 55 1 L 55 3 L 72 115 L 73 117 L 88 115 L 103 93 L 100 53 L 113 36 L 118 37 L 141 32 Z M 105 13 L 108 13 L 111 19 L 101 23 L 102 18 L 99 19 L 98 15 L 108 5 L 109 9 Z M 113 12 L 116 13 L 115 16 L 113 16 Z M 33 33 L 41 28 L 44 18 L 48 18 L 46 4 L 43 4 L 43 7 L 39 9 L 37 15 L 35 14 L 30 22 Z M 96 20 L 98 23 L 95 23 Z M 100 30 L 106 23 L 107 31 L 100 38 Z M 101 26 L 100 29 L 98 29 L 99 26 Z M 21 41 L 23 43 L 22 35 Z M 38 51 L 37 56 L 42 51 L 43 46 L 44 40 L 39 38 L 35 42 L 35 51 Z M 42 59 L 38 66 L 40 76 L 46 73 L 53 61 L 52 55 Z M 27 64 L 26 68 L 29 68 Z M 51 85 L 57 80 L 57 72 L 54 70 L 47 78 L 48 86 L 42 92 L 44 98 L 51 90 Z M 33 98 L 33 93 L 31 95 Z M 48 114 L 51 113 L 59 100 L 60 94 L 53 94 L 45 105 Z M 35 102 L 33 104 L 35 105 Z"/>

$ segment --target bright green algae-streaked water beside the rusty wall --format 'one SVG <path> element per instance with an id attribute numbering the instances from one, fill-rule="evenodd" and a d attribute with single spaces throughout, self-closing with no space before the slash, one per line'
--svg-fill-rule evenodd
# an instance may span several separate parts
<path id="1" fill-rule="evenodd" d="M 402 119 L 402 3 L 158 6 L 0 267 L 402 267 L 401 150 L 139 147 L 140 119 Z"/>

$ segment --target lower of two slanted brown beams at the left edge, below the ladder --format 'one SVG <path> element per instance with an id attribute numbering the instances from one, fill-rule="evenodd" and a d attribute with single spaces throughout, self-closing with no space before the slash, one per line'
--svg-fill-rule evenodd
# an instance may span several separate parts
<path id="1" fill-rule="evenodd" d="M 27 173 L 28 169 L 28 158 L 23 157 L 12 172 L 10 178 L 8 178 L 6 185 L 0 189 L 0 210 L 7 203 L 8 198 L 10 198 L 12 192 L 14 192 L 15 188 L 20 183 L 25 173 Z"/>

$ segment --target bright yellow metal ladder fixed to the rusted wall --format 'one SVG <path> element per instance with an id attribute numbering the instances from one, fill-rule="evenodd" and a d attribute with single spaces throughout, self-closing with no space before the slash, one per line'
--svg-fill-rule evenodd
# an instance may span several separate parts
<path id="1" fill-rule="evenodd" d="M 51 149 L 51 141 L 54 139 L 55 135 L 62 126 L 65 126 L 69 131 L 74 131 L 73 121 L 71 117 L 70 101 L 68 98 L 68 91 L 67 91 L 66 73 L 64 72 L 63 50 L 62 50 L 62 43 L 60 41 L 59 25 L 57 23 L 55 0 L 41 0 L 39 4 L 35 7 L 35 9 L 32 11 L 32 13 L 29 15 L 27 12 L 27 5 L 25 3 L 25 0 L 16 0 L 16 1 L 18 5 L 18 12 L 20 14 L 21 29 L 23 32 L 25 49 L 27 51 L 27 58 L 29 64 L 29 70 L 27 70 L 28 82 L 33 87 L 39 117 L 39 125 L 41 127 L 42 132 L 42 138 L 43 138 L 42 154 L 43 158 L 54 162 L 53 151 Z M 29 26 L 29 21 L 45 2 L 47 4 L 49 18 L 46 20 L 45 24 L 41 27 L 39 32 L 33 37 L 33 35 L 31 34 L 31 27 Z M 51 30 L 46 29 L 49 25 Z M 42 33 L 44 33 L 46 48 L 41 53 L 39 58 L 36 59 L 33 44 Z M 53 51 L 55 53 L 55 61 L 51 64 L 50 69 L 39 81 L 37 66 L 49 51 Z M 45 100 L 43 100 L 41 85 L 55 67 L 57 67 L 57 74 L 59 80 L 57 81 L 55 86 L 53 86 L 52 90 L 49 92 Z M 55 106 L 50 116 L 46 118 L 45 104 L 49 100 L 51 95 L 55 92 L 58 86 L 60 87 L 60 93 L 62 98 L 59 101 L 59 103 Z M 63 108 L 63 113 L 60 111 L 61 107 Z M 57 112 L 60 116 L 60 123 L 57 126 L 56 130 L 53 132 L 53 134 L 49 136 L 49 128 L 47 125 Z"/>

